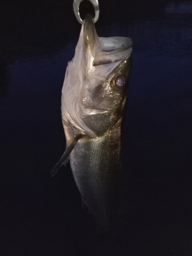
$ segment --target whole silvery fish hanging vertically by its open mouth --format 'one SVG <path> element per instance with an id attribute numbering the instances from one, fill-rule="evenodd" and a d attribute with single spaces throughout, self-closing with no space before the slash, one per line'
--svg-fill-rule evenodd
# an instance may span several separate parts
<path id="1" fill-rule="evenodd" d="M 62 87 L 66 151 L 52 176 L 70 159 L 82 204 L 101 233 L 109 232 L 121 194 L 121 122 L 132 44 L 129 37 L 99 37 L 86 15 Z"/>

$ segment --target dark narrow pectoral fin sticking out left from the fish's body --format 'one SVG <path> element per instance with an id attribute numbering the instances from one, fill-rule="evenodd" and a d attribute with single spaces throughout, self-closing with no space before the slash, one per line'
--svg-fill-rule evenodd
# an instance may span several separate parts
<path id="1" fill-rule="evenodd" d="M 63 153 L 63 155 L 61 156 L 61 159 L 55 164 L 55 166 L 53 167 L 53 169 L 51 170 L 51 176 L 53 177 L 59 170 L 59 168 L 64 165 L 66 166 L 68 160 L 69 160 L 69 156 L 70 153 L 72 152 L 74 146 L 76 145 L 77 141 L 79 139 L 81 139 L 83 136 L 82 133 L 78 134 L 74 140 L 72 141 L 72 143 L 66 147 L 66 151 Z"/>

